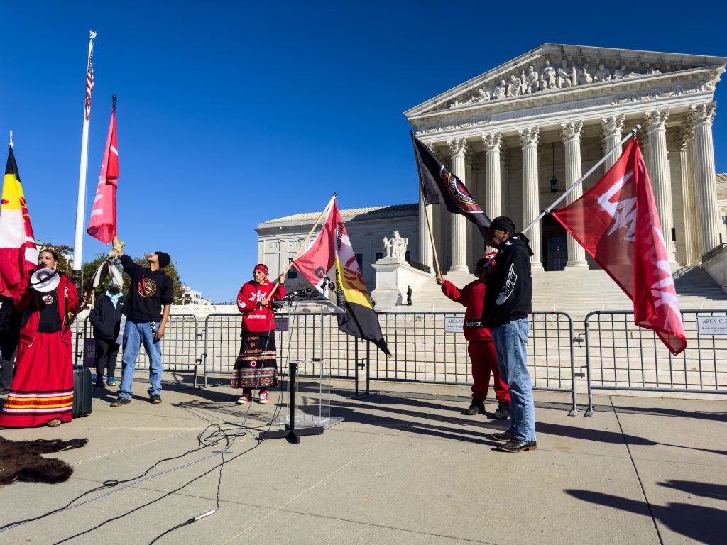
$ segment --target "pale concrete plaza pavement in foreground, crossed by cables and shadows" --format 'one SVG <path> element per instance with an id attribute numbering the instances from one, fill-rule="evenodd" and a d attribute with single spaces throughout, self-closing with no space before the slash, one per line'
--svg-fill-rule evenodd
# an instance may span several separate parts
<path id="1" fill-rule="evenodd" d="M 567 394 L 536 392 L 538 450 L 509 454 L 489 439 L 506 421 L 462 414 L 466 387 L 372 383 L 376 395 L 353 400 L 353 383 L 334 381 L 332 414 L 345 421 L 292 445 L 257 440 L 278 392 L 241 406 L 238 391 L 188 389 L 189 376 L 165 374 L 164 403 L 151 405 L 144 375 L 129 405 L 111 408 L 113 390 L 97 389 L 90 416 L 0 431 L 89 439 L 49 455 L 73 464 L 68 482 L 0 488 L 0 526 L 86 493 L 0 530 L 1 543 L 148 544 L 214 509 L 218 483 L 215 514 L 156 543 L 727 542 L 727 400 L 599 395 L 585 418 L 582 405 L 568 416 Z M 210 424 L 233 435 L 243 422 L 220 480 L 224 437 L 201 448 L 198 436 Z M 103 486 L 112 479 L 131 481 Z"/>

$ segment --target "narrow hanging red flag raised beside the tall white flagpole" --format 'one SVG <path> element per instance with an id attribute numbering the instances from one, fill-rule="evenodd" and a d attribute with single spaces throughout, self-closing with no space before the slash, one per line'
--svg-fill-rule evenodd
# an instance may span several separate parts
<path id="1" fill-rule="evenodd" d="M 116 236 L 116 187 L 119 187 L 119 150 L 116 148 L 116 108 L 111 110 L 106 150 L 98 177 L 96 197 L 86 232 L 104 244 Z"/>

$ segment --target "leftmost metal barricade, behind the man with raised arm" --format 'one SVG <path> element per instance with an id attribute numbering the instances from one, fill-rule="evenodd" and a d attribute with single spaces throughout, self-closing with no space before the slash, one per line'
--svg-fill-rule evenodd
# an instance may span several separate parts
<path id="1" fill-rule="evenodd" d="M 76 334 L 76 363 L 83 365 L 86 339 L 93 339 L 93 326 L 86 317 Z M 193 314 L 170 314 L 161 339 L 161 363 L 164 371 L 191 371 L 194 374 L 194 386 L 197 384 L 198 339 L 204 333 L 199 331 L 199 323 Z M 121 367 L 123 350 L 119 350 L 118 366 Z M 143 346 L 139 350 L 136 362 L 137 369 L 148 369 L 149 358 Z"/>

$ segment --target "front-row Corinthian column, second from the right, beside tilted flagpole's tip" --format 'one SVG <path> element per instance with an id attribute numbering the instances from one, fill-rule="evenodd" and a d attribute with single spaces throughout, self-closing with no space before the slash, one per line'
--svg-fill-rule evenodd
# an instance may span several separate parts
<path id="1" fill-rule="evenodd" d="M 659 221 L 662 223 L 662 234 L 667 247 L 667 257 L 672 263 L 674 259 L 674 244 L 672 243 L 672 227 L 674 217 L 672 212 L 672 179 L 667 161 L 667 119 L 669 109 L 652 110 L 644 115 L 646 132 L 648 134 L 648 156 L 651 170 L 648 171 L 651 186 L 654 187 L 654 201 Z"/>

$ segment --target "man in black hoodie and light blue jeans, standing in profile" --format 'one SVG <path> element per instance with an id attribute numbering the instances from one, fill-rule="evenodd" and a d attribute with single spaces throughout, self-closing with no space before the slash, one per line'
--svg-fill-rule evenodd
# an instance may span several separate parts
<path id="1" fill-rule="evenodd" d="M 487 281 L 482 320 L 490 328 L 500 376 L 510 389 L 510 429 L 492 434 L 492 439 L 503 443 L 501 451 L 534 451 L 535 406 L 527 360 L 533 252 L 525 235 L 515 233 L 512 219 L 497 217 L 489 230 L 488 243 L 498 251 Z"/>

